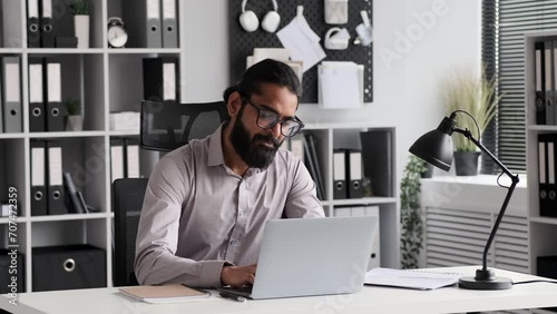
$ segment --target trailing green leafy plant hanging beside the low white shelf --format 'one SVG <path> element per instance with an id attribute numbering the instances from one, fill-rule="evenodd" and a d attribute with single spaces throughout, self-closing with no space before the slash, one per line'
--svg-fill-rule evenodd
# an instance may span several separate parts
<path id="1" fill-rule="evenodd" d="M 404 269 L 419 267 L 418 259 L 423 247 L 420 178 L 427 170 L 426 161 L 411 155 L 400 181 L 400 248 L 401 266 Z"/>

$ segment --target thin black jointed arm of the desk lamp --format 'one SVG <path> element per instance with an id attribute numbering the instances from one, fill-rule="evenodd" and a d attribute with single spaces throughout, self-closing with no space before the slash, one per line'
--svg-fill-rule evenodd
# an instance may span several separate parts
<path id="1" fill-rule="evenodd" d="M 473 138 L 472 134 L 468 129 L 461 129 L 458 127 L 455 127 L 452 131 L 459 133 L 465 135 L 469 140 L 471 140 L 478 148 L 486 153 L 496 164 L 499 166 L 502 171 L 510 177 L 511 184 L 508 187 L 507 196 L 505 197 L 505 200 L 502 202 L 501 209 L 499 210 L 499 215 L 497 215 L 497 219 L 495 220 L 494 227 L 491 228 L 491 233 L 489 234 L 489 239 L 486 243 L 486 247 L 483 248 L 483 258 L 482 258 L 482 271 L 487 271 L 487 255 L 489 252 L 489 247 L 491 246 L 491 243 L 494 242 L 495 235 L 497 233 L 497 229 L 499 228 L 499 224 L 501 223 L 502 216 L 505 216 L 505 210 L 507 210 L 507 206 L 509 205 L 510 197 L 512 196 L 512 193 L 515 192 L 515 187 L 517 186 L 519 178 L 518 175 L 512 174 L 509 168 L 507 168 L 497 157 L 495 157 L 491 151 L 489 151 L 479 140 Z"/>

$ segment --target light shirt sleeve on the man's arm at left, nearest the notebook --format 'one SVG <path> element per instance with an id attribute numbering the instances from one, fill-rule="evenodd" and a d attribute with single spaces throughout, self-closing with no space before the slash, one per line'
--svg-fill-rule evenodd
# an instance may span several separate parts
<path id="1" fill-rule="evenodd" d="M 141 285 L 184 283 L 221 286 L 225 261 L 194 261 L 176 256 L 186 169 L 164 157 L 155 167 L 141 208 L 136 239 L 135 273 Z"/>

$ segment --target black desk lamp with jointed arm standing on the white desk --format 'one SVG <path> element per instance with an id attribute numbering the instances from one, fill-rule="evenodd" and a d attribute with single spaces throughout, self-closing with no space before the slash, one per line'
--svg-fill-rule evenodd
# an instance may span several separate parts
<path id="1" fill-rule="evenodd" d="M 468 115 L 476 127 L 478 128 L 478 139 L 473 138 L 470 130 L 461 129 L 457 127 L 457 121 L 455 117 L 457 114 L 462 112 Z M 468 290 L 507 290 L 512 286 L 512 281 L 504 277 L 496 277 L 495 272 L 492 269 L 487 268 L 487 254 L 489 251 L 489 246 L 494 241 L 495 234 L 499 228 L 499 224 L 501 223 L 502 216 L 505 215 L 505 210 L 507 209 L 507 205 L 509 204 L 512 192 L 515 190 L 516 185 L 518 184 L 518 175 L 512 174 L 497 157 L 494 156 L 479 140 L 480 130 L 478 127 L 478 122 L 476 119 L 465 110 L 456 110 L 450 115 L 450 117 L 444 117 L 439 127 L 434 130 L 431 130 L 424 135 L 422 135 L 411 147 L 410 153 L 420 157 L 421 159 L 428 161 L 429 164 L 448 171 L 452 164 L 452 138 L 451 135 L 453 133 L 461 134 L 466 136 L 469 140 L 471 140 L 477 147 L 481 149 L 481 151 L 486 153 L 501 169 L 502 171 L 510 177 L 511 184 L 508 187 L 507 196 L 505 197 L 505 202 L 502 203 L 501 209 L 499 210 L 499 215 L 494 224 L 491 229 L 491 234 L 489 235 L 488 242 L 486 243 L 486 247 L 483 248 L 482 256 L 482 267 L 481 269 L 476 271 L 476 276 L 462 277 L 459 279 L 459 287 L 468 288 Z M 502 175 L 502 174 L 501 174 Z M 501 176 L 499 175 L 499 177 Z M 499 178 L 498 178 L 499 180 Z M 497 181 L 499 186 L 499 181 Z M 502 186 L 501 186 L 502 187 Z"/>

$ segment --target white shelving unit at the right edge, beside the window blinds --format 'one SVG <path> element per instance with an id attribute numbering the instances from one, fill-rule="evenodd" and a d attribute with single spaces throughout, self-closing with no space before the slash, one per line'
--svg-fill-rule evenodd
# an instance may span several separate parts
<path id="1" fill-rule="evenodd" d="M 557 134 L 557 126 L 536 125 L 535 43 L 551 38 L 557 31 L 528 32 L 526 45 L 526 169 L 528 171 L 528 216 L 530 234 L 530 262 L 532 274 L 537 274 L 537 257 L 557 255 L 551 241 L 557 233 L 557 218 L 539 215 L 538 135 Z"/>

